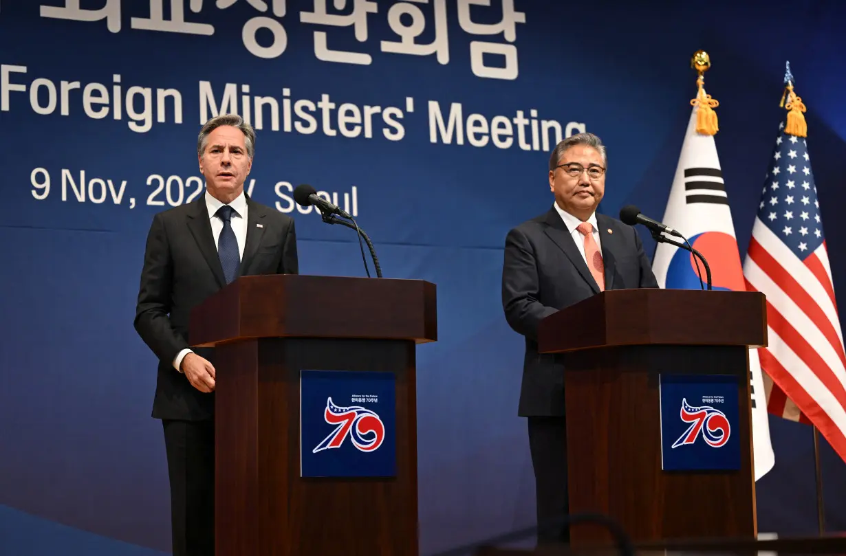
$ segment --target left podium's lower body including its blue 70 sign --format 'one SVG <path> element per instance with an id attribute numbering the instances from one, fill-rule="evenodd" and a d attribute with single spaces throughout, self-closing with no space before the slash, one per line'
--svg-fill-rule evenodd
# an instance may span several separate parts
<path id="1" fill-rule="evenodd" d="M 415 341 L 265 338 L 216 352 L 217 556 L 415 556 Z"/>

